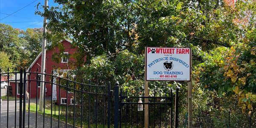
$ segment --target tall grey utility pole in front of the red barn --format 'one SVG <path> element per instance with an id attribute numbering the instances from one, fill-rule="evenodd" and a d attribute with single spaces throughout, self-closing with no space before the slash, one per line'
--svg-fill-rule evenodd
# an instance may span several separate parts
<path id="1" fill-rule="evenodd" d="M 47 7 L 48 6 L 48 0 L 44 0 L 44 6 Z M 42 57 L 41 57 L 41 73 L 44 73 L 44 70 L 45 70 L 45 60 L 46 60 L 46 57 L 45 57 L 45 53 L 46 53 L 46 49 L 45 49 L 45 46 L 46 46 L 46 38 L 45 38 L 45 34 L 47 32 L 47 29 L 46 29 L 46 25 L 47 25 L 47 19 L 46 17 L 44 17 L 44 30 L 43 30 L 43 41 L 42 41 Z M 41 81 L 44 81 L 44 75 L 41 75 Z M 41 85 L 40 85 L 40 98 L 39 98 L 39 111 L 43 111 L 43 108 L 44 108 L 44 85 L 45 85 L 45 82 L 41 82 Z"/>

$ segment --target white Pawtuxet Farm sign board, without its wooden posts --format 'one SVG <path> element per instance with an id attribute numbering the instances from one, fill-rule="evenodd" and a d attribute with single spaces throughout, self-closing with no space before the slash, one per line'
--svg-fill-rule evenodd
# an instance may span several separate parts
<path id="1" fill-rule="evenodd" d="M 190 81 L 190 48 L 146 47 L 147 81 Z"/>

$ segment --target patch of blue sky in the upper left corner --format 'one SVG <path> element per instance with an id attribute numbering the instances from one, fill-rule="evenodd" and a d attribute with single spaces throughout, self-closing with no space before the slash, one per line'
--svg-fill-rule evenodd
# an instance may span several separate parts
<path id="1" fill-rule="evenodd" d="M 36 5 L 38 3 L 44 5 L 44 0 L 0 0 L 0 19 L 2 19 L 0 20 L 0 23 L 9 24 L 13 28 L 19 28 L 22 30 L 26 30 L 27 28 L 43 27 L 44 18 L 39 15 L 35 15 Z M 48 6 L 56 6 L 56 4 L 53 0 L 48 0 Z M 19 9 L 21 10 L 16 12 Z M 6 17 L 8 15 L 10 16 Z"/>

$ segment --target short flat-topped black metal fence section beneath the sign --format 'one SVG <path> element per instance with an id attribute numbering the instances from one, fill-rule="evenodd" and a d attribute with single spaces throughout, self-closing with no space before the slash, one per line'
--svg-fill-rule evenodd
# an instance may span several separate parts
<path id="1" fill-rule="evenodd" d="M 166 90 L 165 92 L 149 91 L 153 96 L 144 96 L 143 91 L 136 89 L 130 91 L 119 89 L 118 82 L 114 86 L 114 128 L 144 128 L 143 106 L 145 105 L 148 105 L 149 109 L 149 127 L 172 128 L 172 90 Z M 128 93 L 130 96 L 128 96 Z M 146 98 L 148 98 L 148 103 L 144 102 Z"/>

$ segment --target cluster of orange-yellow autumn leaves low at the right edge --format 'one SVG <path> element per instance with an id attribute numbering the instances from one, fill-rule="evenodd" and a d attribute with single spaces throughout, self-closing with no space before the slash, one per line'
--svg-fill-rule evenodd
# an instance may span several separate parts
<path id="1" fill-rule="evenodd" d="M 254 48 L 252 48 L 254 49 Z M 251 93 L 250 90 L 246 90 L 245 86 L 247 84 L 247 77 L 251 75 L 248 73 L 247 67 L 255 65 L 253 60 L 249 64 L 242 61 L 240 66 L 237 64 L 240 53 L 236 53 L 236 49 L 231 47 L 231 52 L 226 58 L 226 64 L 224 66 L 224 76 L 226 79 L 231 79 L 231 84 L 233 85 L 233 92 L 236 94 L 239 102 L 238 105 L 244 113 L 247 109 L 249 113 L 253 110 L 252 102 L 256 102 L 256 95 Z M 254 52 L 251 52 L 253 55 Z M 244 75 L 246 74 L 246 75 Z"/>

